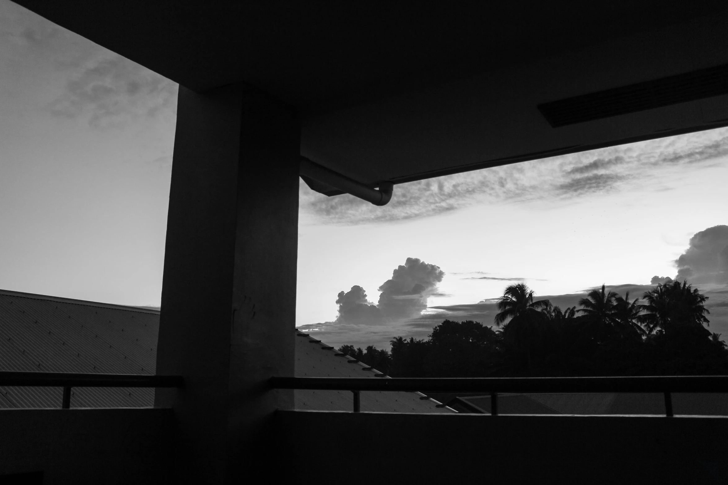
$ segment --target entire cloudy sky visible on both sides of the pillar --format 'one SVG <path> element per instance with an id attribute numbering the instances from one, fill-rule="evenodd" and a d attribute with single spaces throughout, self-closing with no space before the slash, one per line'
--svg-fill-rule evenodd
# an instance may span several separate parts
<path id="1" fill-rule="evenodd" d="M 0 0 L 0 288 L 159 305 L 177 88 Z M 514 282 L 566 305 L 680 272 L 728 335 L 727 181 L 714 129 L 397 185 L 386 207 L 301 182 L 296 324 L 381 348 L 491 324 Z"/>

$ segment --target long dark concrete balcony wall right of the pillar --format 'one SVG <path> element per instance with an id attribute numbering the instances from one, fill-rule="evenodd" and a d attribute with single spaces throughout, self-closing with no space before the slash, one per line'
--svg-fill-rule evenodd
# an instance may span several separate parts
<path id="1" fill-rule="evenodd" d="M 280 411 L 291 483 L 718 484 L 728 418 Z"/>

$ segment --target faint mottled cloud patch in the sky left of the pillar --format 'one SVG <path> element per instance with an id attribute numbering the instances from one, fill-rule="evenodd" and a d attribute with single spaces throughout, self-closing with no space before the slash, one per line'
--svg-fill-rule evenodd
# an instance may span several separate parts
<path id="1" fill-rule="evenodd" d="M 48 109 L 55 116 L 84 117 L 105 128 L 160 114 L 173 115 L 178 84 L 119 56 L 90 60 L 73 73 Z"/>

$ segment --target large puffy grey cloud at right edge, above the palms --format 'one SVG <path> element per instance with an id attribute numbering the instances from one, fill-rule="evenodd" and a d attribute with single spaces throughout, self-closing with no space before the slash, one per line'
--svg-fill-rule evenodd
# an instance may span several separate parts
<path id="1" fill-rule="evenodd" d="M 675 261 L 677 278 L 693 284 L 728 284 L 728 225 L 695 233 L 687 251 Z"/>

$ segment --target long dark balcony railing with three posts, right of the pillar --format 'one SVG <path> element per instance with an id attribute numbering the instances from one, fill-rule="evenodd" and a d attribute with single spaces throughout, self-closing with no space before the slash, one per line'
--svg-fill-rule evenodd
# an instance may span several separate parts
<path id="1" fill-rule="evenodd" d="M 272 377 L 276 389 L 350 390 L 354 412 L 360 412 L 363 390 L 484 393 L 491 396 L 491 415 L 498 415 L 498 393 L 662 393 L 665 415 L 673 416 L 672 393 L 728 393 L 728 376 L 665 377 Z M 442 405 L 440 405 L 442 406 Z"/>

